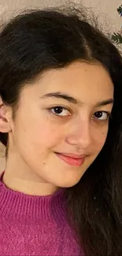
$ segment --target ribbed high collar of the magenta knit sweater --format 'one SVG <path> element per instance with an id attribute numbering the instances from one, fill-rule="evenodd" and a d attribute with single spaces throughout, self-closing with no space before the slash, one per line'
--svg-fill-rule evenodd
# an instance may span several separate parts
<path id="1" fill-rule="evenodd" d="M 57 220 L 58 224 L 65 218 L 64 190 L 59 189 L 53 195 L 27 195 L 13 191 L 2 182 L 0 176 L 0 215 L 11 221 L 39 223 L 39 221 Z"/>

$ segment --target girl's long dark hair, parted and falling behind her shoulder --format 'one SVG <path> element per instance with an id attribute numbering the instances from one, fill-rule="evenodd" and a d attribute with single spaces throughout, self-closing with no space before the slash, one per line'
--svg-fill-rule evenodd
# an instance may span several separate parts
<path id="1" fill-rule="evenodd" d="M 65 191 L 67 216 L 87 256 L 122 255 L 122 60 L 113 44 L 75 9 L 20 13 L 0 33 L 0 95 L 17 106 L 20 91 L 46 69 L 99 61 L 114 84 L 109 133 L 98 158 Z M 92 86 L 92 85 L 91 85 Z M 0 134 L 7 145 L 8 135 Z"/>

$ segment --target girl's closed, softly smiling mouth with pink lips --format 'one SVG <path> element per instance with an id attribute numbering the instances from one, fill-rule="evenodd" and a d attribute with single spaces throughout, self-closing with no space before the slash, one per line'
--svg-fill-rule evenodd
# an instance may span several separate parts
<path id="1" fill-rule="evenodd" d="M 62 161 L 65 161 L 65 163 L 67 163 L 68 165 L 75 165 L 75 166 L 83 165 L 86 158 L 85 155 L 83 155 L 82 158 L 79 158 L 78 156 L 74 158 L 73 154 L 70 154 L 70 155 L 73 155 L 73 157 L 69 156 L 69 154 L 66 155 L 66 154 L 61 154 L 57 152 L 55 152 L 55 154 L 57 154 L 57 157 L 60 158 Z"/>

